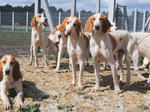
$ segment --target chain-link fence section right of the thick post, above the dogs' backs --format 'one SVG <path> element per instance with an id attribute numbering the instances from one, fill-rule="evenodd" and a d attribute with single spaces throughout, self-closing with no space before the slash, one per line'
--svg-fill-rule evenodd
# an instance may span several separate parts
<path id="1" fill-rule="evenodd" d="M 126 6 L 117 5 L 116 8 L 116 25 L 118 29 L 130 32 L 147 31 L 149 25 L 146 23 L 149 23 L 149 17 L 150 13 L 146 10 L 134 9 L 129 14 Z"/>

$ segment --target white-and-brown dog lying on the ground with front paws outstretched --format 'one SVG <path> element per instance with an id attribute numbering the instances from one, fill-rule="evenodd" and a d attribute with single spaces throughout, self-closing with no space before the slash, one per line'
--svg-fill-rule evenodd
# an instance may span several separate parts
<path id="1" fill-rule="evenodd" d="M 17 93 L 15 107 L 22 107 L 23 88 L 20 66 L 14 56 L 8 54 L 4 55 L 0 60 L 0 95 L 5 110 L 8 110 L 11 106 L 7 96 L 8 90 L 11 88 L 14 88 Z"/>

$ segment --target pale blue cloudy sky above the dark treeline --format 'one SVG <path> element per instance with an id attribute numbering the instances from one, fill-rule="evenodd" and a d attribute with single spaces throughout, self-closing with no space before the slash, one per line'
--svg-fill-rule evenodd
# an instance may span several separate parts
<path id="1" fill-rule="evenodd" d="M 92 10 L 96 12 L 97 0 L 76 0 L 77 10 Z M 108 10 L 108 5 L 111 0 L 101 0 L 101 11 Z M 120 5 L 127 5 L 128 11 L 132 11 L 135 8 L 139 10 L 150 10 L 150 0 L 116 0 Z M 56 8 L 62 8 L 64 10 L 70 9 L 72 0 L 48 0 L 50 6 L 56 6 Z M 11 4 L 13 6 L 25 6 L 34 3 L 34 0 L 0 0 L 0 5 Z"/>

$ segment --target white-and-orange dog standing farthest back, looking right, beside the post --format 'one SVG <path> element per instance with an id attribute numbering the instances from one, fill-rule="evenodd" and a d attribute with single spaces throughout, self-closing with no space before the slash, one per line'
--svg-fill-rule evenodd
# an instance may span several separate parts
<path id="1" fill-rule="evenodd" d="M 38 46 L 42 47 L 43 58 L 45 62 L 45 67 L 48 67 L 47 63 L 47 54 L 46 54 L 46 40 L 42 25 L 46 27 L 47 19 L 43 14 L 36 14 L 31 21 L 32 33 L 31 33 L 31 47 L 30 47 L 30 62 L 29 65 L 32 65 L 33 54 L 35 57 L 35 67 L 38 67 L 38 59 L 37 59 L 37 48 Z"/>

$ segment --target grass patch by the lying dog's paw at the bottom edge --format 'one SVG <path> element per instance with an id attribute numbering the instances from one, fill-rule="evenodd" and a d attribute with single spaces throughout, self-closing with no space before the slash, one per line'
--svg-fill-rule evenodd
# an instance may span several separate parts
<path id="1" fill-rule="evenodd" d="M 17 112 L 39 112 L 40 104 L 27 105 L 23 108 L 20 108 Z"/>

